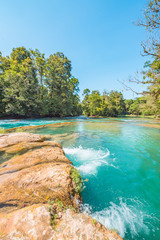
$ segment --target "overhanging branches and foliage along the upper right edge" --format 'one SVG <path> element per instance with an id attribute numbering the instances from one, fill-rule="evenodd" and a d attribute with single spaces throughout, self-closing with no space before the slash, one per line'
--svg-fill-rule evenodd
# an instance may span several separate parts
<path id="1" fill-rule="evenodd" d="M 150 0 L 143 13 L 143 19 L 139 26 L 145 27 L 149 37 L 146 43 L 142 43 L 144 56 L 149 56 L 150 61 L 144 65 L 143 84 L 148 86 L 148 92 L 143 95 L 146 106 L 143 106 L 142 114 L 151 115 L 160 113 L 160 0 Z"/>

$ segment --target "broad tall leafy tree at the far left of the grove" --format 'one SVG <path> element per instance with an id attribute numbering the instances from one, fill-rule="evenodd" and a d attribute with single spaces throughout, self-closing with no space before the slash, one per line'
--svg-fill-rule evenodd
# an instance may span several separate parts
<path id="1" fill-rule="evenodd" d="M 3 67 L 4 62 L 9 62 L 9 67 Z M 11 116 L 35 115 L 38 81 L 30 52 L 24 47 L 14 48 L 11 57 L 2 62 L 2 68 L 6 113 Z"/>

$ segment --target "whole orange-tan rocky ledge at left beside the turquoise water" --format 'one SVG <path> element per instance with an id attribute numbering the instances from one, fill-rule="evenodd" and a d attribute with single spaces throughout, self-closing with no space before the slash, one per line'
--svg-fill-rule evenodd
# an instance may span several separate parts
<path id="1" fill-rule="evenodd" d="M 80 212 L 82 179 L 60 144 L 0 135 L 0 239 L 122 240 Z"/>

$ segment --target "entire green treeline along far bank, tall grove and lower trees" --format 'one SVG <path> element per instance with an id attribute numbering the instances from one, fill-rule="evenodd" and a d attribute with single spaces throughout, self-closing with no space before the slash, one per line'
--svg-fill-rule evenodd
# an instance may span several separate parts
<path id="1" fill-rule="evenodd" d="M 155 63 L 157 59 L 144 73 L 147 77 L 150 77 L 150 69 L 153 75 Z M 136 100 L 125 100 L 117 91 L 100 94 L 85 89 L 84 99 L 80 102 L 79 81 L 72 76 L 71 69 L 71 61 L 59 52 L 48 58 L 38 49 L 33 51 L 24 47 L 13 48 L 10 56 L 4 57 L 0 53 L 0 117 L 160 114 L 157 79 L 150 82 L 148 92 Z"/>

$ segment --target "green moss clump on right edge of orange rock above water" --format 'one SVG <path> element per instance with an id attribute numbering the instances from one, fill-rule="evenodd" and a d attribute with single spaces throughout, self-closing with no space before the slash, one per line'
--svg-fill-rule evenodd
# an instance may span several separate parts
<path id="1" fill-rule="evenodd" d="M 82 191 L 82 186 L 83 186 L 82 177 L 75 168 L 71 169 L 71 176 L 72 176 L 73 182 L 75 183 L 75 191 L 78 194 L 80 194 L 80 192 Z"/>

